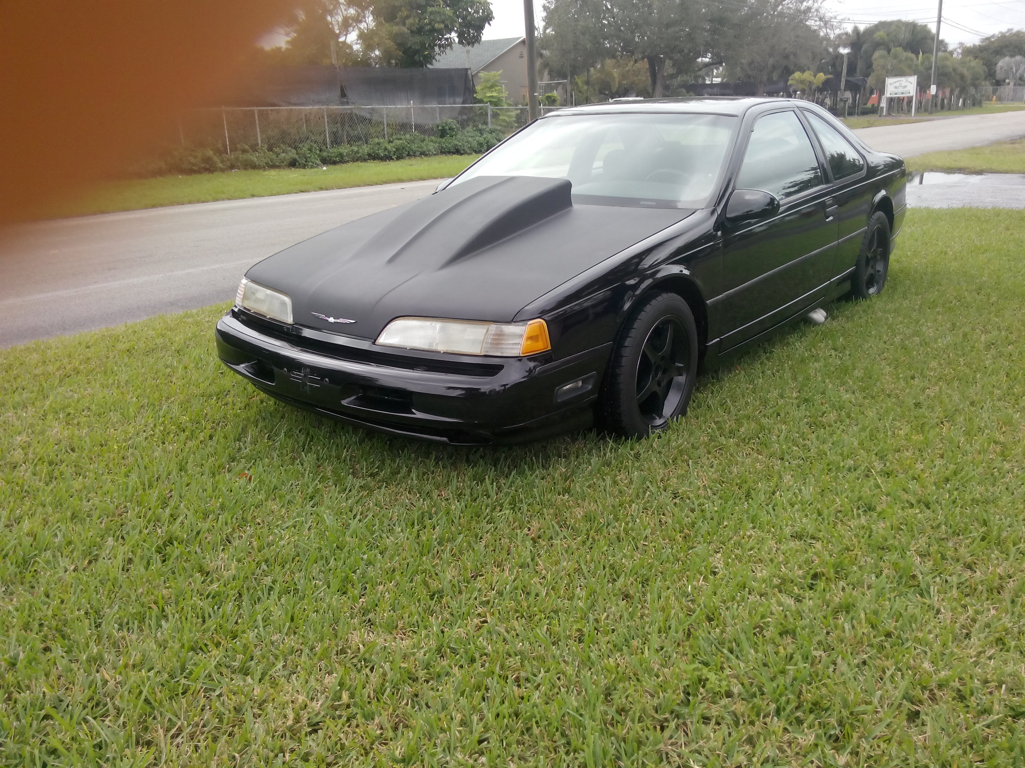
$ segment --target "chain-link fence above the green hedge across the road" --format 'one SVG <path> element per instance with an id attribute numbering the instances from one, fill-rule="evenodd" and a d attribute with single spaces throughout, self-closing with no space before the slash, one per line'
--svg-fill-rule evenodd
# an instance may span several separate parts
<path id="1" fill-rule="evenodd" d="M 558 108 L 542 108 L 550 112 Z M 438 136 L 439 127 L 499 129 L 506 135 L 528 122 L 526 106 L 410 104 L 409 106 L 256 106 L 192 110 L 178 117 L 168 136 L 182 146 L 240 150 L 330 148 L 417 134 Z M 442 129 L 444 131 L 444 129 Z"/>

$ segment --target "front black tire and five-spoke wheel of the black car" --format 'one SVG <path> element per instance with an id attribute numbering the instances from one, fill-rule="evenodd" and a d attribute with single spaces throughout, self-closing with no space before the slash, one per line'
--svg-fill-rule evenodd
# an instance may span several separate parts
<path id="1" fill-rule="evenodd" d="M 698 370 L 694 314 L 680 296 L 645 299 L 623 323 L 609 360 L 600 416 L 623 437 L 647 437 L 687 413 Z"/>

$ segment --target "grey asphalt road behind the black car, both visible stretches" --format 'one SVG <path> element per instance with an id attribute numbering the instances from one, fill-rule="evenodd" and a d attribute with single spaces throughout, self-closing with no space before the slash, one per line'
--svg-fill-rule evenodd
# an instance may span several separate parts
<path id="1" fill-rule="evenodd" d="M 1025 112 L 865 128 L 909 157 L 1025 136 Z M 282 248 L 428 195 L 436 181 L 84 216 L 0 233 L 0 347 L 207 306 Z"/>

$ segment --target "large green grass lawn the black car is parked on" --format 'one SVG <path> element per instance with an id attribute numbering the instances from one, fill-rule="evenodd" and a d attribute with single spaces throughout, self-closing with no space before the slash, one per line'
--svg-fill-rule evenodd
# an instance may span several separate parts
<path id="1" fill-rule="evenodd" d="M 1020 764 L 1023 252 L 911 212 L 643 442 L 323 421 L 223 306 L 0 350 L 0 763 Z"/>

